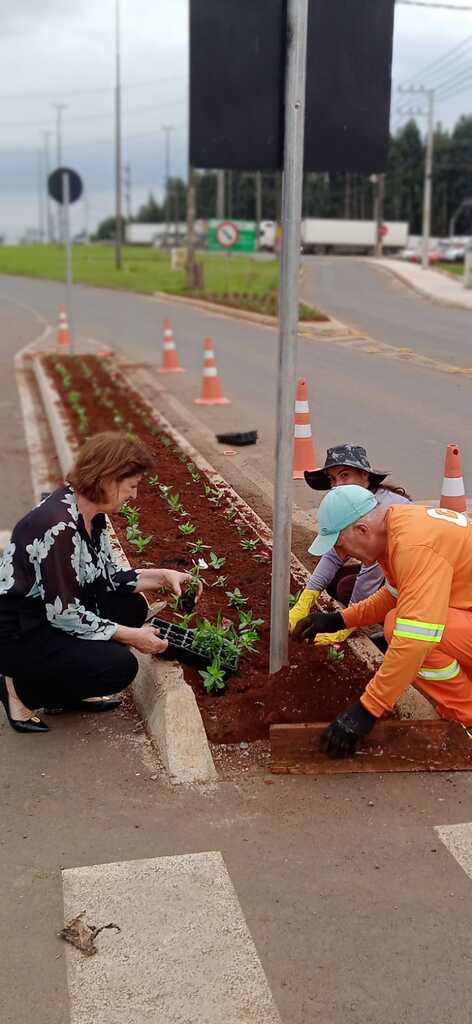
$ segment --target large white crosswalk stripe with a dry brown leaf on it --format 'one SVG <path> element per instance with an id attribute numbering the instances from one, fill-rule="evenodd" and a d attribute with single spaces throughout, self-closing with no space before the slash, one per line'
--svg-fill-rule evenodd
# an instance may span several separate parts
<path id="1" fill-rule="evenodd" d="M 62 871 L 65 918 L 101 932 L 67 946 L 71 1024 L 281 1024 L 218 852 Z"/>

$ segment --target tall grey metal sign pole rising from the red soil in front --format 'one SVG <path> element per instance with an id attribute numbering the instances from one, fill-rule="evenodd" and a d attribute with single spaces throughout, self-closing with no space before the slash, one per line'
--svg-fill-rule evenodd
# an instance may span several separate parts
<path id="1" fill-rule="evenodd" d="M 278 308 L 276 465 L 273 502 L 273 555 L 270 603 L 271 673 L 288 664 L 290 554 L 292 547 L 292 464 L 295 408 L 300 223 L 305 130 L 306 36 L 308 0 L 289 0 L 287 20 L 286 108 L 282 257 Z"/>

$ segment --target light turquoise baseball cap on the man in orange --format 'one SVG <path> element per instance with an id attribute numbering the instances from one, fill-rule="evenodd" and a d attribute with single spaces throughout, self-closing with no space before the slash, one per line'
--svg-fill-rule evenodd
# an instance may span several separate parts
<path id="1" fill-rule="evenodd" d="M 310 555 L 326 555 L 337 544 L 341 530 L 369 515 L 377 504 L 377 498 L 367 487 L 358 487 L 355 483 L 333 487 L 319 506 L 319 529 L 308 548 Z"/>

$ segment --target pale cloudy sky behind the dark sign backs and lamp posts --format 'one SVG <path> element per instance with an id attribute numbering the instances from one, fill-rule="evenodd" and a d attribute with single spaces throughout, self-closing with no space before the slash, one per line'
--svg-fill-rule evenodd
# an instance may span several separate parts
<path id="1" fill-rule="evenodd" d="M 342 6 L 343 0 L 338 2 Z M 6 3 L 2 6 L 0 233 L 12 239 L 38 224 L 38 150 L 43 133 L 50 132 L 50 164 L 55 165 L 55 103 L 67 104 L 62 163 L 77 168 L 86 183 L 87 202 L 76 204 L 74 228 L 88 223 L 92 229 L 114 210 L 115 0 L 15 0 L 6 11 Z M 121 10 L 124 161 L 131 165 L 135 211 L 151 189 L 162 195 L 164 124 L 174 126 L 171 172 L 185 172 L 188 3 L 121 0 Z M 396 7 L 395 83 L 454 47 L 457 63 L 453 57 L 453 65 L 446 61 L 415 79 L 415 84 L 435 84 L 441 67 L 444 81 L 449 76 L 452 86 L 442 89 L 436 117 L 447 125 L 472 113 L 472 75 L 466 84 L 472 69 L 472 10 Z M 394 94 L 394 115 L 398 106 Z"/>

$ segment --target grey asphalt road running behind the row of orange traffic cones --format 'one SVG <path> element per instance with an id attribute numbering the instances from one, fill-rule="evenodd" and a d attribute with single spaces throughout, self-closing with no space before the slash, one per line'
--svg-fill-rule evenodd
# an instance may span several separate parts
<path id="1" fill-rule="evenodd" d="M 348 266 L 349 264 L 349 266 Z M 313 267 L 317 261 L 313 262 Z M 337 269 L 338 268 L 338 269 Z M 363 276 L 371 291 L 381 288 L 384 275 L 366 264 L 344 264 L 328 260 L 321 274 L 340 274 L 339 293 L 350 274 Z M 380 282 L 380 284 L 379 284 Z M 366 288 L 368 285 L 366 285 Z M 334 288 L 334 284 L 333 284 Z M 354 295 L 354 283 L 351 286 Z M 390 285 L 388 286 L 390 288 Z M 396 286 L 393 296 L 396 295 Z M 403 294 L 404 292 L 404 294 Z M 328 294 L 321 305 L 329 307 Z M 417 300 L 401 290 L 401 301 L 412 304 L 412 316 L 424 310 L 428 323 L 450 317 L 458 324 L 458 310 L 442 309 Z M 56 323 L 57 308 L 63 298 L 60 285 L 22 278 L 0 278 L 0 307 L 13 308 L 17 303 L 37 310 L 51 324 Z M 313 294 L 314 298 L 314 294 Z M 354 301 L 354 299 L 352 299 Z M 374 300 L 373 300 L 374 301 Z M 380 303 L 382 305 L 382 303 Z M 394 302 L 393 302 L 394 305 Z M 366 313 L 366 325 L 370 313 Z M 393 317 L 393 309 L 391 313 Z M 462 345 L 470 339 L 468 313 L 464 313 Z M 257 428 L 260 443 L 251 458 L 269 479 L 273 475 L 274 401 L 276 377 L 276 332 L 271 328 L 233 321 L 191 307 L 157 301 L 120 292 L 79 286 L 74 295 L 74 321 L 78 334 L 93 336 L 122 347 L 131 359 L 159 364 L 162 322 L 171 316 L 185 375 L 165 378 L 166 387 L 192 410 L 199 420 L 212 430 Z M 387 313 L 384 316 L 387 319 Z M 394 326 L 391 331 L 396 331 Z M 459 327 L 457 327 L 459 331 Z M 234 404 L 225 409 L 205 410 L 195 407 L 192 398 L 200 391 L 202 342 L 211 335 L 215 342 L 218 367 L 225 393 Z M 436 340 L 438 336 L 435 335 Z M 411 345 L 404 333 L 402 345 Z M 472 360 L 471 360 L 472 361 Z M 359 347 L 356 342 L 299 339 L 298 370 L 305 375 L 313 432 L 319 458 L 328 445 L 351 440 L 367 445 L 376 468 L 390 470 L 392 478 L 402 483 L 418 500 L 439 495 L 444 447 L 448 442 L 461 445 L 464 469 L 472 472 L 470 403 L 472 379 L 455 376 L 415 365 L 404 353 L 392 348 L 387 354 L 375 345 Z M 297 483 L 294 497 L 309 508 L 317 495 Z"/>

